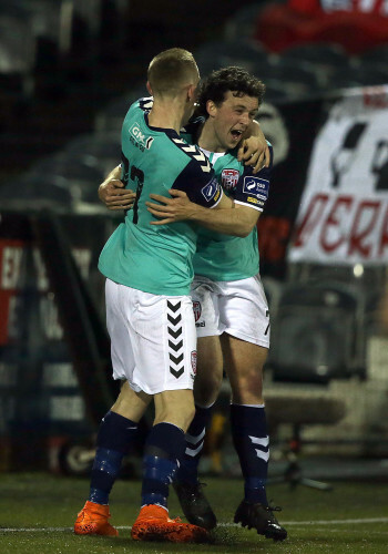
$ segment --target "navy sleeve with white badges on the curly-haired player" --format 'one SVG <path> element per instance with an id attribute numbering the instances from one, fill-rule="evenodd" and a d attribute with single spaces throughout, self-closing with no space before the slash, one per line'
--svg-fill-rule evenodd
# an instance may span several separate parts
<path id="1" fill-rule="evenodd" d="M 268 199 L 269 179 L 273 167 L 273 147 L 269 146 L 270 162 L 269 167 L 263 167 L 255 175 L 252 167 L 245 166 L 244 173 L 239 177 L 236 191 L 234 194 L 234 202 L 243 206 L 249 206 L 254 209 L 263 212 L 265 203 Z"/>

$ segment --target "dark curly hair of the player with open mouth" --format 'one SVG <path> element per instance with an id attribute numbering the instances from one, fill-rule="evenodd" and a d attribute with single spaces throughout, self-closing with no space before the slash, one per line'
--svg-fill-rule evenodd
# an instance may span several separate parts
<path id="1" fill-rule="evenodd" d="M 257 98 L 258 105 L 262 104 L 265 93 L 265 84 L 245 69 L 231 65 L 217 71 L 213 71 L 200 85 L 196 115 L 208 116 L 206 103 L 212 100 L 219 106 L 226 92 L 232 91 L 236 96 L 246 94 Z"/>

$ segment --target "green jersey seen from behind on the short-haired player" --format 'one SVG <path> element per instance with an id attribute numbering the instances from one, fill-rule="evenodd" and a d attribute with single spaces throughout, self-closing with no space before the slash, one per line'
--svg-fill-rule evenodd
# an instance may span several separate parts
<path id="1" fill-rule="evenodd" d="M 193 279 L 197 226 L 181 222 L 163 226 L 147 209 L 150 194 L 170 196 L 170 188 L 184 191 L 205 207 L 215 206 L 222 188 L 207 157 L 171 129 L 149 125 L 150 99 L 135 102 L 122 127 L 122 179 L 136 189 L 126 212 L 105 244 L 99 269 L 115 283 L 154 295 L 187 295 Z"/>

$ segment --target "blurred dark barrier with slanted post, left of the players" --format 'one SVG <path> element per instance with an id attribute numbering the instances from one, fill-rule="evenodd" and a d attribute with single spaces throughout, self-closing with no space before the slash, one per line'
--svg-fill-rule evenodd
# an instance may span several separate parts
<path id="1" fill-rule="evenodd" d="M 114 398 L 96 269 L 109 223 L 49 212 L 1 214 L 3 468 L 47 466 L 48 453 L 54 466 L 60 447 L 90 437 Z"/>

